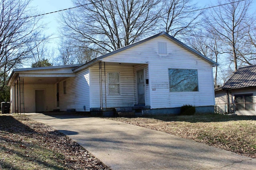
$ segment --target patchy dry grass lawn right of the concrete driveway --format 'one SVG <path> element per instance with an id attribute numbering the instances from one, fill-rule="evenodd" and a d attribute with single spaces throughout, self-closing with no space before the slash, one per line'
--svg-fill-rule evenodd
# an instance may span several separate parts
<path id="1" fill-rule="evenodd" d="M 256 158 L 256 116 L 202 114 L 109 119 L 170 133 Z"/>

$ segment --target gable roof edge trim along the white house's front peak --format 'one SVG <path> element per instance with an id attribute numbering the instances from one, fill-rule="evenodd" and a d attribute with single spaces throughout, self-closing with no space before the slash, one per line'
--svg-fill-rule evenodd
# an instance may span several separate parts
<path id="1" fill-rule="evenodd" d="M 136 42 L 136 43 L 132 43 L 132 44 L 130 44 L 130 45 L 127 45 L 127 46 L 125 46 L 125 47 L 122 47 L 122 48 L 117 49 L 117 50 L 115 50 L 115 51 L 112 51 L 112 52 L 110 52 L 110 53 L 107 53 L 107 54 L 105 54 L 105 55 L 102 55 L 102 56 L 100 56 L 100 57 L 97 57 L 97 58 L 95 58 L 95 59 L 89 61 L 88 63 L 85 63 L 85 64 L 83 64 L 83 65 L 81 65 L 81 66 L 78 66 L 77 68 L 74 69 L 74 72 L 77 72 L 77 71 L 79 71 L 79 70 L 82 70 L 83 68 L 86 68 L 86 67 L 90 66 L 91 64 L 94 64 L 94 63 L 96 63 L 97 61 L 100 61 L 101 59 L 103 59 L 103 58 L 105 58 L 105 57 L 108 57 L 108 56 L 110 56 L 110 55 L 119 53 L 119 52 L 124 51 L 124 50 L 126 50 L 126 49 L 129 49 L 129 48 L 131 48 L 131 47 L 134 47 L 134 46 L 136 46 L 136 45 L 139 45 L 139 44 L 141 44 L 141 43 L 144 43 L 144 42 L 149 41 L 149 40 L 151 40 L 151 39 L 154 39 L 154 38 L 156 38 L 156 37 L 159 37 L 159 36 L 161 36 L 161 35 L 165 36 L 166 38 L 168 38 L 168 39 L 171 40 L 172 42 L 176 43 L 176 44 L 179 45 L 180 47 L 183 47 L 184 49 L 190 51 L 190 52 L 193 53 L 194 55 L 200 57 L 200 58 L 203 59 L 204 61 L 206 61 L 206 62 L 212 64 L 213 66 L 218 66 L 218 65 L 219 65 L 218 63 L 212 61 L 212 60 L 209 59 L 208 57 L 205 57 L 204 55 L 202 55 L 202 54 L 199 53 L 198 51 L 192 49 L 191 47 L 185 45 L 184 43 L 182 43 L 182 42 L 179 41 L 178 39 L 172 37 L 171 35 L 169 35 L 168 33 L 166 33 L 166 32 L 163 31 L 163 32 L 161 32 L 161 33 L 158 33 L 158 34 L 156 34 L 156 35 L 153 35 L 153 36 L 151 36 L 151 37 L 148 37 L 148 38 L 146 38 L 146 39 L 143 39 L 143 40 L 141 40 L 141 41 L 138 41 L 138 42 Z"/>

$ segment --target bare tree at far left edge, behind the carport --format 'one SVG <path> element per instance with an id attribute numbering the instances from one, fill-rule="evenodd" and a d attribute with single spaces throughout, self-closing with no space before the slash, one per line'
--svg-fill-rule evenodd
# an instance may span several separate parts
<path id="1" fill-rule="evenodd" d="M 28 44 L 40 35 L 40 18 L 32 17 L 30 0 L 0 0 L 0 90 L 6 86 L 6 74 L 21 64 L 30 51 Z"/>

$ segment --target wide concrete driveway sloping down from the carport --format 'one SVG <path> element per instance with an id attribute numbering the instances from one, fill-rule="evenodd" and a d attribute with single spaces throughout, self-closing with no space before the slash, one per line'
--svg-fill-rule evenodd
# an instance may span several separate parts
<path id="1" fill-rule="evenodd" d="M 126 123 L 78 115 L 26 115 L 68 135 L 112 170 L 256 169 L 256 159 Z"/>

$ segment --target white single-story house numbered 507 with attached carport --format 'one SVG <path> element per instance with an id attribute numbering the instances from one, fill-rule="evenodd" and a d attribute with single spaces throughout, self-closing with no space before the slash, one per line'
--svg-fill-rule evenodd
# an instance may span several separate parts
<path id="1" fill-rule="evenodd" d="M 212 67 L 218 65 L 165 32 L 83 65 L 14 69 L 12 112 L 112 111 L 178 113 L 181 106 L 214 111 Z"/>

